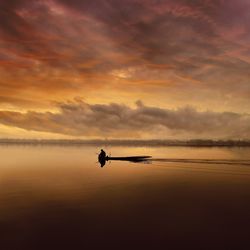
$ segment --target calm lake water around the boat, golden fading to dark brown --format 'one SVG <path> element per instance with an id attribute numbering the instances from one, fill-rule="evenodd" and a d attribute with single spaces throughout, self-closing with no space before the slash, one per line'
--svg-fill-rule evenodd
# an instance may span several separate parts
<path id="1" fill-rule="evenodd" d="M 250 148 L 0 147 L 0 249 L 249 249 Z"/>

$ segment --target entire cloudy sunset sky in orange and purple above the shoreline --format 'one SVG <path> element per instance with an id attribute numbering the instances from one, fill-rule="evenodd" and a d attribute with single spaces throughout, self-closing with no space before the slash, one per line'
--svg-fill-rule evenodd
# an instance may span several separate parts
<path id="1" fill-rule="evenodd" d="M 0 138 L 250 139 L 249 0 L 0 0 Z"/>

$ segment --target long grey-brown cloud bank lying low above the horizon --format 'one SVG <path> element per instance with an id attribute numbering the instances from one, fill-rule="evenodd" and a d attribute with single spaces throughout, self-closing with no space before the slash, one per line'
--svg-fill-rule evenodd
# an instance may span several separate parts
<path id="1" fill-rule="evenodd" d="M 249 114 L 198 112 L 190 107 L 160 109 L 140 101 L 134 109 L 116 103 L 91 105 L 81 100 L 61 103 L 59 108 L 59 113 L 0 111 L 0 123 L 83 137 L 250 138 Z"/>

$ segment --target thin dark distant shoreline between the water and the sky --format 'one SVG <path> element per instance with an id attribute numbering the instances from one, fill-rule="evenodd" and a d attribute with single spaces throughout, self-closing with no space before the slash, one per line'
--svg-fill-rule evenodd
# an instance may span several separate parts
<path id="1" fill-rule="evenodd" d="M 250 140 L 64 140 L 64 139 L 0 139 L 0 145 L 58 146 L 182 146 L 182 147 L 250 147 Z"/>

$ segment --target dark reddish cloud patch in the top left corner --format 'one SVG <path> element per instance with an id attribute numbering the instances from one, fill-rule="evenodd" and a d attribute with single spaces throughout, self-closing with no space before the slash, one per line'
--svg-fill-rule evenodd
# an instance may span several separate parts
<path id="1" fill-rule="evenodd" d="M 58 58 L 58 53 L 51 47 L 50 34 L 37 29 L 36 19 L 31 21 L 29 18 L 32 12 L 46 18 L 48 10 L 43 5 L 36 1 L 13 0 L 1 1 L 0 7 L 1 47 L 26 60 L 49 62 Z"/>

